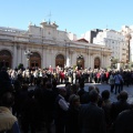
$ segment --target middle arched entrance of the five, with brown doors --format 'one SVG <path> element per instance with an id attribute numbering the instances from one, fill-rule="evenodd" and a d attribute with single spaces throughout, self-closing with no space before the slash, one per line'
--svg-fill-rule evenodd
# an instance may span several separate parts
<path id="1" fill-rule="evenodd" d="M 55 66 L 64 68 L 64 57 L 62 54 L 58 54 L 55 58 Z"/>

